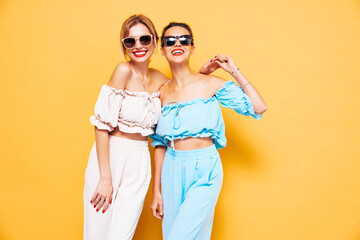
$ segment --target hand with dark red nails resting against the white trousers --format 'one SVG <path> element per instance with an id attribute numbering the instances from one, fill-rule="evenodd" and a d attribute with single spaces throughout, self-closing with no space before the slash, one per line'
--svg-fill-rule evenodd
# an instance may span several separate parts
<path id="1" fill-rule="evenodd" d="M 109 204 L 112 202 L 112 193 L 113 186 L 111 179 L 100 179 L 95 193 L 90 200 L 90 203 L 94 204 L 94 208 L 96 207 L 97 212 L 101 208 L 102 213 L 108 209 Z"/>

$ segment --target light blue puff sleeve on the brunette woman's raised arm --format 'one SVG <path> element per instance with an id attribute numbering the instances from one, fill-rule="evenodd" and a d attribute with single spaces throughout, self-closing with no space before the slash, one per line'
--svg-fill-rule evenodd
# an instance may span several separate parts
<path id="1" fill-rule="evenodd" d="M 223 87 L 215 93 L 215 96 L 222 106 L 234 109 L 239 114 L 252 116 L 256 120 L 262 117 L 262 114 L 254 112 L 250 98 L 234 81 L 225 82 Z"/>

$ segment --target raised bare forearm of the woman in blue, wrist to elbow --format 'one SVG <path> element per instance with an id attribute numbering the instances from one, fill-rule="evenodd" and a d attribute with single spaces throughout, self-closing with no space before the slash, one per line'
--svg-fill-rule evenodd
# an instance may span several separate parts
<path id="1" fill-rule="evenodd" d="M 266 111 L 267 107 L 262 99 L 259 92 L 256 90 L 256 88 L 253 86 L 252 83 L 250 83 L 245 76 L 241 73 L 241 71 L 234 67 L 234 70 L 230 72 L 230 74 L 235 78 L 235 80 L 239 83 L 240 87 L 244 90 L 246 95 L 249 96 L 255 113 L 263 113 Z"/>

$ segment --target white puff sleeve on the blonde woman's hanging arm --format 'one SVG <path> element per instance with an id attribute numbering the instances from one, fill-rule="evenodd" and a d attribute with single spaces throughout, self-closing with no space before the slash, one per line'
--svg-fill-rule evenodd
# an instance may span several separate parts
<path id="1" fill-rule="evenodd" d="M 113 131 L 118 125 L 122 99 L 121 89 L 103 85 L 95 104 L 95 115 L 90 117 L 91 124 L 98 129 Z"/>

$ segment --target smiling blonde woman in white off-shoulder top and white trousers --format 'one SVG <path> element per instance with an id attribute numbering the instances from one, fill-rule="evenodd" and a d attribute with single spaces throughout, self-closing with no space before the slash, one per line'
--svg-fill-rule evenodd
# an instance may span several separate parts
<path id="1" fill-rule="evenodd" d="M 84 187 L 84 239 L 132 239 L 151 179 L 148 136 L 161 112 L 167 78 L 149 68 L 158 35 L 151 20 L 133 15 L 120 33 L 129 59 L 103 85 L 90 118 L 95 126 Z"/>

